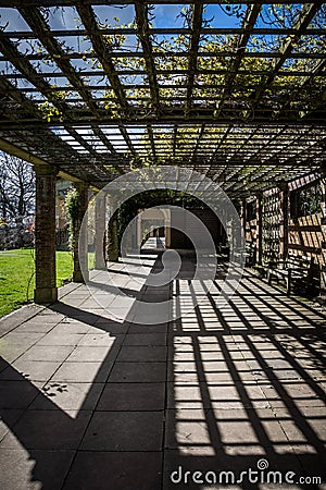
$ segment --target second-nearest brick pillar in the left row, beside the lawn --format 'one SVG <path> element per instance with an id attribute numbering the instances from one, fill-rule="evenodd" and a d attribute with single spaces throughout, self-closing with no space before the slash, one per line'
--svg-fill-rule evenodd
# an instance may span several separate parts
<path id="1" fill-rule="evenodd" d="M 78 206 L 73 225 L 73 281 L 84 282 L 88 279 L 88 236 L 87 222 L 84 222 L 83 228 L 82 223 L 88 207 L 88 185 L 85 182 L 75 182 L 74 186 L 78 194 Z"/>

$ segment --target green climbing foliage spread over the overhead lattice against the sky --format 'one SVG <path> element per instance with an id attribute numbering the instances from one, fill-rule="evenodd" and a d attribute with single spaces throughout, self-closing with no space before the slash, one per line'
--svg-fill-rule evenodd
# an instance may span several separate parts
<path id="1" fill-rule="evenodd" d="M 275 29 L 275 34 L 249 35 L 249 39 L 243 49 L 239 47 L 240 35 L 237 34 L 221 34 L 214 35 L 202 32 L 198 46 L 198 56 L 195 70 L 195 79 L 191 94 L 191 100 L 187 102 L 187 85 L 189 76 L 189 51 L 191 49 L 191 34 L 181 33 L 175 35 L 156 35 L 150 34 L 151 50 L 153 54 L 155 78 L 158 82 L 158 91 L 160 105 L 163 111 L 174 111 L 175 109 L 185 109 L 187 103 L 191 106 L 193 112 L 197 108 L 200 110 L 208 109 L 211 114 L 215 114 L 216 121 L 224 109 L 229 110 L 230 123 L 233 119 L 237 122 L 242 120 L 250 123 L 254 119 L 255 112 L 260 106 L 271 110 L 272 118 L 277 120 L 280 111 L 288 111 L 293 115 L 293 120 L 301 117 L 304 119 L 311 110 L 321 105 L 321 94 L 324 90 L 323 76 L 311 76 L 316 73 L 317 64 L 321 62 L 313 57 L 288 57 L 283 63 L 281 70 L 275 70 L 278 63 L 278 56 L 288 51 L 288 48 L 294 53 L 321 53 L 325 51 L 325 37 L 319 35 L 300 35 L 294 30 L 299 28 L 300 22 L 304 17 L 306 11 L 310 9 L 309 3 L 271 3 L 263 4 L 255 27 Z M 225 15 L 233 17 L 230 25 L 246 28 L 246 19 L 252 4 L 234 3 L 229 4 L 227 0 L 222 1 L 215 5 L 214 16 L 202 21 L 202 27 L 209 29 L 214 27 L 214 17 L 223 19 Z M 204 7 L 204 12 L 205 12 Z M 147 7 L 149 26 L 154 25 L 155 9 L 152 5 Z M 46 20 L 49 19 L 50 11 L 42 9 Z M 181 20 L 181 27 L 191 28 L 191 20 L 193 13 L 193 4 L 184 5 L 180 9 L 178 17 Z M 323 28 L 325 26 L 326 10 L 325 5 L 321 5 L 317 14 L 313 17 L 309 28 Z M 75 19 L 78 27 L 83 27 L 79 19 Z M 114 17 L 113 22 L 108 20 L 97 19 L 97 26 L 99 33 L 104 29 L 111 29 L 110 34 L 102 33 L 102 41 L 108 52 L 123 53 L 122 57 L 112 57 L 110 62 L 113 63 L 120 82 L 123 85 L 124 94 L 128 102 L 131 115 L 139 120 L 148 115 L 158 115 L 158 108 L 155 107 L 155 97 L 152 97 L 149 88 L 149 74 L 141 74 L 147 71 L 149 60 L 146 59 L 148 53 L 145 53 L 142 48 L 146 33 L 138 30 L 136 46 L 134 41 L 130 46 L 130 36 L 124 33 L 114 32 L 117 27 L 135 28 L 135 21 L 125 25 L 120 22 L 118 17 Z M 290 34 L 279 34 L 277 29 L 294 29 Z M 300 29 L 299 29 L 300 30 Z M 79 36 L 77 36 L 79 38 Z M 87 38 L 87 36 L 86 36 Z M 49 64 L 55 72 L 55 63 L 59 62 L 61 54 L 54 54 L 49 59 L 49 53 L 45 50 L 42 45 L 37 40 L 24 40 L 27 45 L 26 54 L 42 56 L 40 63 Z M 65 40 L 59 41 L 63 53 L 78 52 L 82 60 L 85 61 L 85 66 L 80 72 L 87 69 L 95 69 L 101 71 L 103 69 L 99 61 L 95 48 L 89 42 L 89 47 L 83 52 L 80 49 L 73 49 L 67 46 Z M 260 57 L 255 57 L 255 53 Z M 262 53 L 264 53 L 262 56 Z M 130 56 L 129 56 L 130 54 Z M 238 57 L 238 54 L 240 57 Z M 244 56 L 243 56 L 244 54 Z M 238 63 L 240 58 L 240 63 Z M 281 57 L 280 57 L 281 58 Z M 43 66 L 39 65 L 39 71 L 45 73 Z M 293 73 L 293 75 L 291 75 Z M 298 73 L 302 75 L 298 75 Z M 276 74 L 276 76 L 274 76 Z M 306 79 L 304 82 L 304 74 Z M 321 72 L 322 75 L 322 72 Z M 87 78 L 83 76 L 85 85 L 88 84 Z M 310 78 L 309 78 L 310 77 Z M 106 111 L 105 117 L 112 120 L 128 117 L 125 107 L 121 107 L 120 100 L 113 86 L 108 83 L 106 77 L 102 78 L 104 85 L 104 93 L 99 93 L 101 101 L 99 103 Z M 309 83 L 308 83 L 309 82 Z M 70 88 L 70 82 L 67 83 Z M 57 90 L 58 86 L 52 85 L 55 90 L 49 90 L 47 100 L 40 103 L 39 110 L 43 119 L 48 122 L 58 120 L 61 117 L 62 103 L 68 98 L 68 91 Z M 72 90 L 73 91 L 73 90 Z M 96 98 L 97 96 L 95 96 Z M 79 105 L 79 102 L 70 102 Z M 82 102 L 80 102 L 82 103 Z M 315 107 L 314 107 L 315 105 Z M 137 112 L 134 109 L 137 109 Z M 173 147 L 172 134 L 168 130 L 155 130 L 154 139 L 164 140 L 166 147 L 171 150 L 171 160 L 178 163 L 185 161 L 188 154 L 185 148 L 189 143 L 189 136 L 197 135 L 198 127 L 180 127 L 176 139 L 176 146 Z M 211 134 L 214 128 L 210 128 Z M 216 130 L 217 131 L 217 130 Z M 214 135 L 212 136 L 214 137 Z M 155 164 L 154 156 L 151 155 L 150 140 L 152 139 L 148 131 L 145 131 L 142 143 L 147 147 L 148 155 L 141 155 L 140 161 L 131 162 L 131 169 Z M 189 155 L 191 156 L 191 145 L 188 145 Z M 181 151 L 184 149 L 184 152 Z M 186 155 L 186 157 L 185 157 Z M 128 155 L 128 157 L 131 155 Z"/>

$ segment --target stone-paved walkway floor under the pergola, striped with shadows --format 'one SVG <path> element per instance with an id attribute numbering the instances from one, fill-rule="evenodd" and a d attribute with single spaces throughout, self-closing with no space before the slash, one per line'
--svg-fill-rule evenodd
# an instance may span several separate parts
<path id="1" fill-rule="evenodd" d="M 325 479 L 321 308 L 250 271 L 217 308 L 223 279 L 208 294 L 187 279 L 190 258 L 173 292 L 146 286 L 142 272 L 135 282 L 130 266 L 133 280 L 114 266 L 129 296 L 70 284 L 52 307 L 0 323 L 0 488 L 203 490 L 225 488 L 220 478 L 236 489 L 325 488 L 299 481 Z M 188 314 L 134 323 L 133 291 L 150 303 L 178 294 L 175 307 Z"/>

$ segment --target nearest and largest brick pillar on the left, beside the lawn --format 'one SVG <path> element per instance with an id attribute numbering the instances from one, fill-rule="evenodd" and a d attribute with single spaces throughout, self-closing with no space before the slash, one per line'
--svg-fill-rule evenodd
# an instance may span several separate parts
<path id="1" fill-rule="evenodd" d="M 35 166 L 35 291 L 39 304 L 58 299 L 55 273 L 55 175 L 50 166 Z"/>

